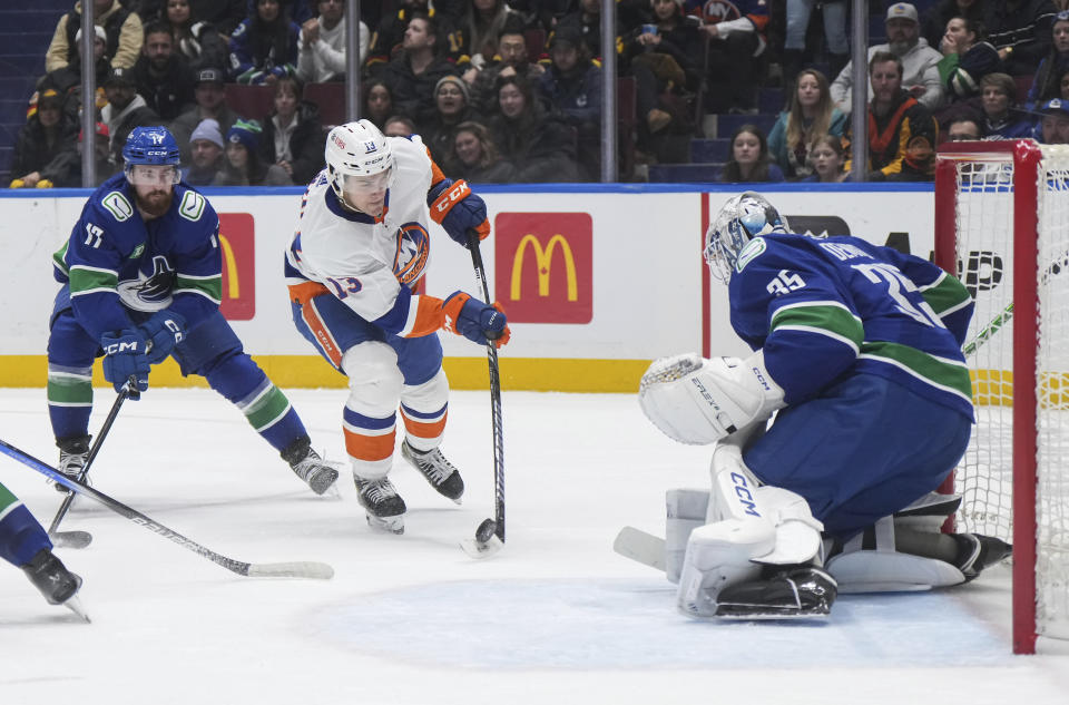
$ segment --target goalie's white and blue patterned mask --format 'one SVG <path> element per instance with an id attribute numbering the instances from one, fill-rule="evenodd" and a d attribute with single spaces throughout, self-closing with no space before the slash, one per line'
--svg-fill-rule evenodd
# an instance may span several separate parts
<path id="1" fill-rule="evenodd" d="M 713 218 L 705 233 L 705 262 L 713 276 L 725 284 L 738 261 L 738 253 L 755 237 L 788 232 L 786 218 L 761 194 L 748 190 L 733 197 Z"/>

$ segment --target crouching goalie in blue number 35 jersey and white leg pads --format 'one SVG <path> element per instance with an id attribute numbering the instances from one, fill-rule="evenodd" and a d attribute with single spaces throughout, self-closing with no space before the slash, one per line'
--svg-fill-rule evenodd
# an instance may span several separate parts
<path id="1" fill-rule="evenodd" d="M 667 435 L 716 443 L 712 492 L 669 492 L 681 611 L 823 616 L 838 590 L 957 585 L 1009 552 L 919 519 L 957 507 L 933 492 L 973 423 L 973 302 L 957 278 L 856 237 L 791 234 L 755 193 L 719 212 L 705 257 L 755 352 L 658 360 L 639 392 Z"/>

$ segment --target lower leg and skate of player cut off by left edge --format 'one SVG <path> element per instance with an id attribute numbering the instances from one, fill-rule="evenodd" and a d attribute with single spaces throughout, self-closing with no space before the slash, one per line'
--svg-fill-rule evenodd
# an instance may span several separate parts
<path id="1" fill-rule="evenodd" d="M 63 605 L 85 618 L 76 594 L 81 578 L 52 554 L 45 527 L 0 482 L 0 558 L 22 569 L 49 605 Z"/>

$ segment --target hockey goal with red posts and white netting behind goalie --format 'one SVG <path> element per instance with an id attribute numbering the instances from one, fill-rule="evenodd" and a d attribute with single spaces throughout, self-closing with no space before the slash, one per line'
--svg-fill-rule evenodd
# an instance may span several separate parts
<path id="1" fill-rule="evenodd" d="M 1069 146 L 950 143 L 935 262 L 975 300 L 957 530 L 1013 544 L 1013 650 L 1069 638 Z"/>

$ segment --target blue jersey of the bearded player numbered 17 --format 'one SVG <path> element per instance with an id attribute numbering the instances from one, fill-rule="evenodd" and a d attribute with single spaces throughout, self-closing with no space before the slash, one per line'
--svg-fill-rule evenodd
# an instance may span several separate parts
<path id="1" fill-rule="evenodd" d="M 112 176 L 52 255 L 56 280 L 69 283 L 78 322 L 97 340 L 134 327 L 127 310 L 170 309 L 193 329 L 222 303 L 219 218 L 208 200 L 178 184 L 167 213 L 148 222 L 135 203 L 126 176 Z"/>

